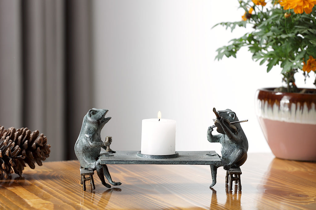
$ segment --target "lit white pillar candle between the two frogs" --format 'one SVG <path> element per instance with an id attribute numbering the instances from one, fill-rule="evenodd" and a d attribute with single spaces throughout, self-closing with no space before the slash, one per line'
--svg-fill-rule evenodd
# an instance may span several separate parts
<path id="1" fill-rule="evenodd" d="M 175 154 L 175 137 L 175 120 L 160 118 L 142 120 L 141 153 L 145 155 L 173 155 Z"/>

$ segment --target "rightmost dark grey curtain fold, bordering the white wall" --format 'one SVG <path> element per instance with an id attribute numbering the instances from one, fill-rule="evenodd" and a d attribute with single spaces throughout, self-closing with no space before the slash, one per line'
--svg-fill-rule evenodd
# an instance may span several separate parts
<path id="1" fill-rule="evenodd" d="M 92 108 L 92 17 L 91 1 L 65 1 L 66 25 L 66 159 L 76 159 L 74 146 L 83 117 Z"/>

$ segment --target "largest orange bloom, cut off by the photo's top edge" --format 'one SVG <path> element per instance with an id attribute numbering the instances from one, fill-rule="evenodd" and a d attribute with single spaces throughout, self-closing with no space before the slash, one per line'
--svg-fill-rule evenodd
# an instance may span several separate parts
<path id="1" fill-rule="evenodd" d="M 294 9 L 296 14 L 305 12 L 309 14 L 312 12 L 316 0 L 281 0 L 280 5 L 283 9 Z"/>

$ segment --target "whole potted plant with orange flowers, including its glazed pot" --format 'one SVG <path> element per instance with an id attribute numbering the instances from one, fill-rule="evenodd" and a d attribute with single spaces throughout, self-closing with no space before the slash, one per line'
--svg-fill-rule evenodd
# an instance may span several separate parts
<path id="1" fill-rule="evenodd" d="M 252 59 L 266 64 L 267 72 L 280 65 L 284 87 L 256 93 L 258 120 L 276 157 L 316 160 L 316 89 L 296 87 L 294 75 L 315 76 L 316 0 L 240 0 L 242 20 L 222 22 L 232 31 L 251 25 L 252 32 L 232 39 L 217 50 L 216 58 L 236 57 L 248 47 Z M 316 77 L 315 77 L 316 78 Z M 316 85 L 316 79 L 313 85 Z"/>

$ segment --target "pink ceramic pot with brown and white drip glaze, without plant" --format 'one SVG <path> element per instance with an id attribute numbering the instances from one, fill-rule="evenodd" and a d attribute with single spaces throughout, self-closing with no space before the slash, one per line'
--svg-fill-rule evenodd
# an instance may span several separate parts
<path id="1" fill-rule="evenodd" d="M 256 92 L 258 120 L 273 154 L 289 160 L 316 161 L 316 94 L 273 89 Z"/>

